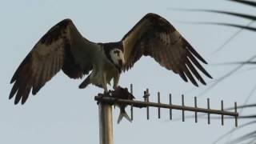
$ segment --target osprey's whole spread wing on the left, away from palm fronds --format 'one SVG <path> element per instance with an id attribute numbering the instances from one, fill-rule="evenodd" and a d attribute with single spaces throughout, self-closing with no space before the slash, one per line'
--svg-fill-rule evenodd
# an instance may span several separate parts
<path id="1" fill-rule="evenodd" d="M 26 102 L 32 89 L 37 94 L 59 70 L 70 78 L 82 78 L 92 69 L 98 45 L 83 38 L 70 19 L 53 26 L 34 46 L 14 73 L 10 97 L 14 103 Z"/>

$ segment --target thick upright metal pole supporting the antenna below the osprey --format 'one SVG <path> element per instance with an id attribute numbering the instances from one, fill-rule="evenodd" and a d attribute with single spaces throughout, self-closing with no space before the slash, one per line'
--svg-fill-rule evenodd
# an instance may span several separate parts
<path id="1" fill-rule="evenodd" d="M 99 116 L 99 143 L 113 144 L 113 118 L 112 106 L 110 104 L 100 102 L 98 104 Z"/>

